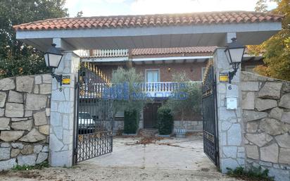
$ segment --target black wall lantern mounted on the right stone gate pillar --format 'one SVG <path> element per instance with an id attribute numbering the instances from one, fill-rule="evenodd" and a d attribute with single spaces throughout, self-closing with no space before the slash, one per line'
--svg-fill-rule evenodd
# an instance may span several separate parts
<path id="1" fill-rule="evenodd" d="M 234 69 L 232 72 L 229 72 L 229 83 L 231 83 L 232 78 L 236 75 L 237 70 L 239 69 L 239 64 L 244 56 L 245 49 L 246 46 L 239 44 L 237 38 L 232 38 L 232 42 L 229 43 L 227 49 L 225 49 L 227 61 L 229 61 L 229 65 L 232 65 L 232 68 Z"/>

